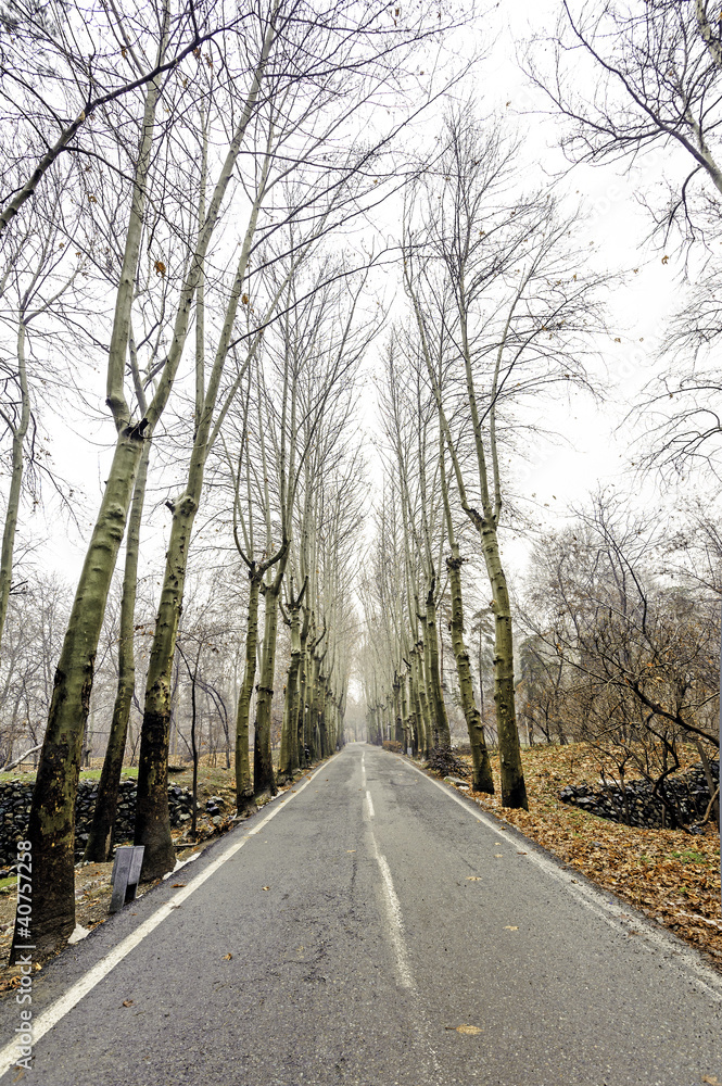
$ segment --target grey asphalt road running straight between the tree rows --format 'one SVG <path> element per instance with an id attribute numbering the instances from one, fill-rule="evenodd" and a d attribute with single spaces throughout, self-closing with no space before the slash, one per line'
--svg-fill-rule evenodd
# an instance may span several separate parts
<path id="1" fill-rule="evenodd" d="M 722 978 L 694 951 L 362 744 L 33 1000 L 56 1024 L 3 1086 L 722 1086 Z M 5 999 L 3 1043 L 18 1015 Z"/>

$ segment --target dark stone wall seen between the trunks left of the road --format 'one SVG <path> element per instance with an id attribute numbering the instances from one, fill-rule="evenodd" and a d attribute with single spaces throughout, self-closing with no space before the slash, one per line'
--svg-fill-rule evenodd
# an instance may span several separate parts
<path id="1" fill-rule="evenodd" d="M 136 793 L 135 781 L 121 781 L 118 794 L 118 813 L 115 820 L 115 843 L 132 842 L 132 833 L 136 819 Z M 75 805 L 75 859 L 81 860 L 85 850 L 92 812 L 98 797 L 97 781 L 80 781 L 78 785 L 78 797 Z M 30 800 L 33 798 L 33 783 L 25 781 L 7 781 L 0 784 L 0 868 L 9 868 L 15 862 L 17 854 L 16 843 L 23 841 L 27 830 L 27 819 L 30 813 Z M 190 824 L 193 796 L 189 788 L 181 788 L 177 784 L 168 788 L 168 806 L 170 809 L 170 825 L 182 826 Z M 199 815 L 203 813 L 211 818 L 214 824 L 219 824 L 223 819 L 225 800 L 220 796 L 212 796 L 203 807 L 198 806 Z"/>

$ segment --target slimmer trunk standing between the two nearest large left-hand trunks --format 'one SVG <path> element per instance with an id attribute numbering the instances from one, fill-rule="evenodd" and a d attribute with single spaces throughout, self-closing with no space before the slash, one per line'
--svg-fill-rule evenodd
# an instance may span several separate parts
<path id="1" fill-rule="evenodd" d="M 92 816 L 92 824 L 85 850 L 85 860 L 103 863 L 113 851 L 113 826 L 117 815 L 123 757 L 128 734 L 130 706 L 136 689 L 135 618 L 138 585 L 138 553 L 140 548 L 140 526 L 145 500 L 145 481 L 150 442 L 147 442 L 138 467 L 136 489 L 132 495 L 128 536 L 126 541 L 125 572 L 123 576 L 123 598 L 121 601 L 121 635 L 118 639 L 118 685 L 113 706 L 111 732 L 103 759 L 103 768 L 98 785 L 98 799 Z"/>

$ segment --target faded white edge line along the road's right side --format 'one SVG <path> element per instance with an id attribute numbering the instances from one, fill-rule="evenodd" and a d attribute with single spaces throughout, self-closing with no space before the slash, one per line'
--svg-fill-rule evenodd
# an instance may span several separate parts
<path id="1" fill-rule="evenodd" d="M 428 781 L 430 784 L 434 784 L 444 793 L 445 796 L 453 799 L 455 804 L 458 804 L 459 807 L 467 811 L 467 813 L 471 815 L 471 817 L 476 818 L 478 822 L 485 825 L 487 830 L 493 830 L 497 836 L 506 839 L 507 844 L 518 844 L 515 833 L 510 833 L 501 826 L 493 816 L 482 813 L 479 810 L 469 807 L 469 803 L 473 803 L 473 799 L 469 799 L 465 803 L 460 796 L 455 794 L 455 790 L 447 788 L 442 781 L 435 781 L 432 776 L 428 776 L 423 770 L 419 769 L 418 766 L 410 765 L 410 762 L 405 758 L 398 758 L 397 755 L 394 757 L 396 757 L 403 766 L 406 766 L 408 769 L 413 769 L 415 773 L 422 776 L 425 781 Z M 516 830 L 516 833 L 521 834 L 522 837 L 527 836 L 522 830 Z M 527 837 L 527 839 L 532 846 L 536 846 L 536 848 L 544 847 L 543 845 L 536 845 L 536 842 L 534 842 L 531 837 Z M 570 873 L 569 871 L 565 871 L 560 866 L 563 863 L 563 860 L 555 861 L 547 859 L 546 856 L 537 853 L 535 848 L 532 848 L 532 850 L 527 854 L 525 859 L 536 864 L 536 867 L 544 871 L 545 874 L 561 883 L 568 894 L 577 898 L 581 905 L 594 912 L 606 924 L 609 924 L 617 931 L 620 926 L 634 926 L 636 922 L 635 918 L 630 917 L 629 913 L 625 912 L 625 908 L 634 909 L 633 905 L 624 906 L 615 900 L 610 900 L 604 896 L 604 891 L 598 891 L 591 885 L 578 883 L 575 875 L 579 874 L 581 877 L 585 876 L 581 874 L 581 872 Z M 608 893 L 612 892 L 609 891 Z M 648 950 L 672 950 L 677 959 L 680 959 L 677 964 L 683 964 L 689 970 L 689 972 L 695 974 L 694 983 L 705 988 L 707 993 L 718 1002 L 722 1002 L 722 978 L 720 978 L 710 967 L 698 961 L 694 954 L 687 949 L 681 939 L 676 939 L 673 934 L 667 933 L 666 931 L 656 931 L 650 921 L 643 913 L 639 913 L 637 909 L 634 909 L 634 911 L 637 913 L 639 921 L 644 923 L 642 945 L 644 946 L 646 942 L 648 944 L 646 949 Z"/>

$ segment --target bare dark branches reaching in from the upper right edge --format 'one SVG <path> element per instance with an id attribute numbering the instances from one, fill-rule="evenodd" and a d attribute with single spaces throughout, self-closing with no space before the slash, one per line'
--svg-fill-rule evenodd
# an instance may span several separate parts
<path id="1" fill-rule="evenodd" d="M 662 261 L 675 242 L 686 254 L 686 298 L 664 336 L 666 366 L 637 408 L 651 437 L 642 462 L 670 475 L 708 467 L 719 475 L 720 381 L 710 354 L 721 328 L 718 12 L 709 0 L 603 8 L 565 0 L 562 8 L 527 66 L 566 122 L 568 157 L 622 162 Z"/>

